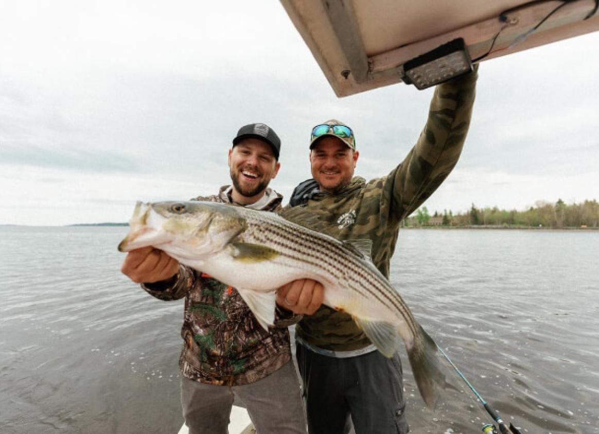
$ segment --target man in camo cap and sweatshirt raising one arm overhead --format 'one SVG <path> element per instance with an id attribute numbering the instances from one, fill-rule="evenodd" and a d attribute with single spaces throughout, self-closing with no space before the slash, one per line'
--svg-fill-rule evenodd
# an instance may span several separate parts
<path id="1" fill-rule="evenodd" d="M 418 141 L 383 177 L 365 181 L 353 176 L 359 154 L 353 130 L 343 122 L 331 119 L 314 126 L 309 154 L 313 179 L 292 194 L 295 218 L 317 220 L 339 240 L 370 244 L 374 265 L 388 278 L 401 221 L 458 162 L 474 103 L 478 66 L 474 69 L 437 86 Z M 277 292 L 278 299 L 295 309 L 302 284 L 288 284 Z M 397 352 L 384 357 L 349 314 L 324 305 L 304 316 L 295 330 L 310 434 L 346 433 L 350 421 L 358 434 L 408 432 Z"/>

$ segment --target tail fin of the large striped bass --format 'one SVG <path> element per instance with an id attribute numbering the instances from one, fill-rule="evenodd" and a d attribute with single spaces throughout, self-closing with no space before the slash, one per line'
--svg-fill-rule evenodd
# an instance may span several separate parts
<path id="1" fill-rule="evenodd" d="M 428 408 L 434 409 L 439 390 L 445 389 L 445 374 L 437 354 L 437 344 L 431 336 L 418 324 L 412 348 L 407 348 L 408 359 L 422 399 Z"/>

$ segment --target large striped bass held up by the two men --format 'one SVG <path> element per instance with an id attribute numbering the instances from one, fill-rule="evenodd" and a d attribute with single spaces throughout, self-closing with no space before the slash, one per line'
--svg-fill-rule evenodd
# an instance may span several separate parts
<path id="1" fill-rule="evenodd" d="M 352 315 L 385 356 L 401 336 L 420 394 L 434 407 L 445 381 L 437 345 L 372 263 L 370 240 L 342 242 L 274 213 L 218 202 L 138 202 L 129 225 L 120 251 L 152 245 L 235 287 L 265 328 L 274 321 L 277 288 L 319 281 L 323 303 Z"/>

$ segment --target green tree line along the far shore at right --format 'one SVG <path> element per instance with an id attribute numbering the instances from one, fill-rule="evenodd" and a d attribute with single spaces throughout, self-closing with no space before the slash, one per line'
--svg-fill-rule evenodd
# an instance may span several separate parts
<path id="1" fill-rule="evenodd" d="M 524 211 L 500 210 L 498 207 L 477 208 L 453 214 L 435 211 L 431 216 L 426 207 L 419 208 L 416 214 L 406 218 L 406 226 L 490 226 L 490 227 L 599 227 L 599 203 L 594 199 L 580 204 L 567 205 L 561 199 L 555 204 L 537 201 L 534 207 Z"/>

